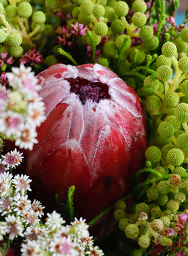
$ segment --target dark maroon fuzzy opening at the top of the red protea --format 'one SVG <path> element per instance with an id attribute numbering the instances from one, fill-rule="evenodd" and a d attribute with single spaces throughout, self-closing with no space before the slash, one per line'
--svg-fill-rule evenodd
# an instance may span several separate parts
<path id="1" fill-rule="evenodd" d="M 83 77 L 64 78 L 70 83 L 71 92 L 79 95 L 79 98 L 83 104 L 86 100 L 92 100 L 93 102 L 99 102 L 100 100 L 109 99 L 109 87 L 107 84 L 101 82 L 91 82 Z"/>

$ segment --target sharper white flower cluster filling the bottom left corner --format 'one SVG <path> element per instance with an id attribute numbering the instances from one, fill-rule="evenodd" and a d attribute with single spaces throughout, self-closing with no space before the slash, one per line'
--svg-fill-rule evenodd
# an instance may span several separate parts
<path id="1" fill-rule="evenodd" d="M 0 159 L 0 243 L 3 239 L 7 243 L 7 239 L 20 238 L 21 256 L 103 256 L 101 249 L 94 247 L 83 218 L 75 218 L 65 226 L 60 214 L 54 211 L 42 222 L 44 207 L 39 201 L 30 201 L 27 195 L 32 180 L 23 174 L 13 177 L 9 172 L 22 158 L 14 150 Z"/>

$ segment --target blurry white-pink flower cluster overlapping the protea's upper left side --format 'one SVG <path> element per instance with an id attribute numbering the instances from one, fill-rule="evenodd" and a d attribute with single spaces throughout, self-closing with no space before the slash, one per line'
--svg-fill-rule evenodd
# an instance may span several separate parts
<path id="1" fill-rule="evenodd" d="M 36 127 L 45 120 L 44 102 L 38 96 L 40 86 L 32 68 L 23 64 L 6 73 L 9 86 L 0 84 L 0 134 L 15 141 L 19 148 L 32 150 L 37 143 Z"/>

